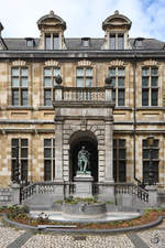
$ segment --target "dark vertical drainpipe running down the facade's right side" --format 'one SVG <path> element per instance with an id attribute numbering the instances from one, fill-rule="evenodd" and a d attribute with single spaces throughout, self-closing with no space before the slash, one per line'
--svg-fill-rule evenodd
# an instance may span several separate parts
<path id="1" fill-rule="evenodd" d="M 138 182 L 138 184 L 142 184 L 142 182 L 136 177 L 136 85 L 135 85 L 135 74 L 136 74 L 136 54 L 134 53 L 133 60 L 133 177 Z"/>

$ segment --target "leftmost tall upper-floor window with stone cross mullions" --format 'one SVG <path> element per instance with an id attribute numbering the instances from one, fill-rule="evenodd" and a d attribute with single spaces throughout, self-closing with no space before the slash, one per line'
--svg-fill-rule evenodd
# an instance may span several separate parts
<path id="1" fill-rule="evenodd" d="M 29 76 L 26 67 L 11 69 L 11 90 L 13 106 L 29 105 Z"/>

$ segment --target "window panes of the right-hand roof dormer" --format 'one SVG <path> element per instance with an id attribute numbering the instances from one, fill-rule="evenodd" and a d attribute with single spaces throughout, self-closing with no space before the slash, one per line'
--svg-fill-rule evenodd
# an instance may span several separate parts
<path id="1" fill-rule="evenodd" d="M 109 41 L 110 50 L 123 50 L 124 48 L 124 39 L 123 34 L 110 34 Z"/>

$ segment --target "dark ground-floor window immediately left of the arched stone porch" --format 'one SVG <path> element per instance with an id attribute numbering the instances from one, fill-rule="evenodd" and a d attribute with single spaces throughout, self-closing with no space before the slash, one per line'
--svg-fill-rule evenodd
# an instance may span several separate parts
<path id="1" fill-rule="evenodd" d="M 44 139 L 44 181 L 55 177 L 55 139 Z"/>

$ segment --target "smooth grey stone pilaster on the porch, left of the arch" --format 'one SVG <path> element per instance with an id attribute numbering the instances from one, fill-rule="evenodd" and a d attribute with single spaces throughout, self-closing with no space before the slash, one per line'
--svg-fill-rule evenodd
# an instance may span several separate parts
<path id="1" fill-rule="evenodd" d="M 63 120 L 55 121 L 55 182 L 63 182 Z"/>

